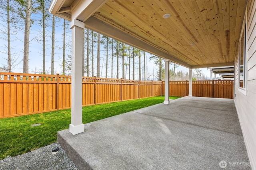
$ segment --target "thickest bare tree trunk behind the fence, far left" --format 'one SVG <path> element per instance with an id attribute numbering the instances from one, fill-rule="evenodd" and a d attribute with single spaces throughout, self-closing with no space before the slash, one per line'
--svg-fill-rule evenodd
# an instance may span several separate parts
<path id="1" fill-rule="evenodd" d="M 31 17 L 31 0 L 27 0 L 26 1 L 25 31 L 24 31 L 23 73 L 28 73 L 30 17 Z"/>

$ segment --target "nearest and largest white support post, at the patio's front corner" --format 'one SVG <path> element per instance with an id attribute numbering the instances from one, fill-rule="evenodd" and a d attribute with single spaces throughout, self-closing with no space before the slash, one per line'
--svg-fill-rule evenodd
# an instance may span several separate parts
<path id="1" fill-rule="evenodd" d="M 84 23 L 72 20 L 72 78 L 71 78 L 71 124 L 72 135 L 84 132 L 82 123 L 82 48 Z"/>

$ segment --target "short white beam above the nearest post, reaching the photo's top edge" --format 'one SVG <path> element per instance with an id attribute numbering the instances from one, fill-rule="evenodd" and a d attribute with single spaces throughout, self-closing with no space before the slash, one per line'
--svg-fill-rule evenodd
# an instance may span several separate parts
<path id="1" fill-rule="evenodd" d="M 74 8 L 71 5 L 72 20 L 86 21 L 106 2 L 107 0 L 81 0 L 78 3 L 74 1 Z"/>

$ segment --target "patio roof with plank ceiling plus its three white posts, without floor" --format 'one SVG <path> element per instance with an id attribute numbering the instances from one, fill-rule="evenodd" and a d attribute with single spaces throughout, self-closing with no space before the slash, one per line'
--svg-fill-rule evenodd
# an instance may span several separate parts
<path id="1" fill-rule="evenodd" d="M 217 0 L 52 0 L 50 13 L 72 29 L 72 96 L 70 133 L 82 133 L 83 31 L 91 29 L 162 57 L 165 81 L 174 62 L 192 69 L 234 65 L 246 1 Z M 169 104 L 165 84 L 164 104 Z"/>

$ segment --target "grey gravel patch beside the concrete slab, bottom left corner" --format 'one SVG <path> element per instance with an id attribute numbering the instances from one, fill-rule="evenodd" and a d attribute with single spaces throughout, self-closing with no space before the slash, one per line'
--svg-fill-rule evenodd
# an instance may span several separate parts
<path id="1" fill-rule="evenodd" d="M 52 149 L 59 147 L 57 154 Z M 0 170 L 78 170 L 58 143 L 0 160 Z"/>

